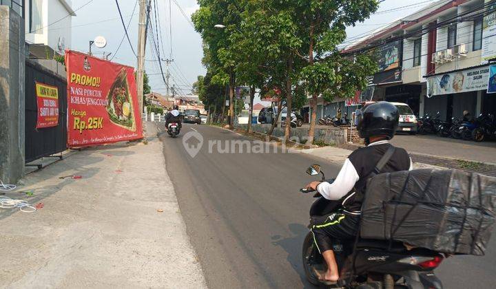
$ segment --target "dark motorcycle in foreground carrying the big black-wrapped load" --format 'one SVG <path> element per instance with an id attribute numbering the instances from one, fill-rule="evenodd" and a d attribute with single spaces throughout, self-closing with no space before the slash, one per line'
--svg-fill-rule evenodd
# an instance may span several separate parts
<path id="1" fill-rule="evenodd" d="M 325 180 L 325 175 L 318 164 L 309 167 L 307 173 L 309 175 L 321 173 L 322 180 Z M 300 191 L 313 192 L 308 189 L 300 189 Z M 310 208 L 310 217 L 322 217 L 333 213 L 336 201 L 329 201 L 320 193 L 316 193 L 313 197 L 318 199 Z M 407 250 L 402 242 L 361 239 L 360 236 L 355 239 L 355 244 L 349 243 L 337 241 L 333 244 L 335 258 L 340 268 L 340 279 L 329 288 L 442 288 L 440 279 L 433 272 L 444 259 L 444 255 L 440 253 L 424 248 Z M 309 282 L 315 286 L 324 285 L 318 279 L 316 270 L 325 272 L 327 265 L 319 253 L 311 232 L 303 242 L 302 261 Z"/>

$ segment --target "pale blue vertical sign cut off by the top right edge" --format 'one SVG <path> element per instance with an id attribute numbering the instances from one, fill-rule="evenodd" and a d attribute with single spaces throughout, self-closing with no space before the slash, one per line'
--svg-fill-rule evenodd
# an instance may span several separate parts
<path id="1" fill-rule="evenodd" d="M 487 6 L 493 0 L 484 1 Z M 496 2 L 490 4 L 488 11 L 493 11 L 484 17 L 482 23 L 482 64 L 488 63 L 489 59 L 496 58 Z"/>

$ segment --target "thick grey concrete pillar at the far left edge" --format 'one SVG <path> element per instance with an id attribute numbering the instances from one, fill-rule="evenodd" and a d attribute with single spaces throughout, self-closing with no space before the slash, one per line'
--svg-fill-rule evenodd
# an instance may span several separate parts
<path id="1" fill-rule="evenodd" d="M 24 175 L 24 21 L 0 6 L 0 180 L 14 184 Z"/>

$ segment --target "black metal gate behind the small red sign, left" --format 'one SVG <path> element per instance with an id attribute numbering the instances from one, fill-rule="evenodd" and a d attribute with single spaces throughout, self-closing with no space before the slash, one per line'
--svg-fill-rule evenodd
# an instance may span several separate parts
<path id="1" fill-rule="evenodd" d="M 59 89 L 59 125 L 37 129 L 38 105 L 35 82 Z M 25 162 L 67 149 L 67 81 L 45 67 L 25 62 Z"/>

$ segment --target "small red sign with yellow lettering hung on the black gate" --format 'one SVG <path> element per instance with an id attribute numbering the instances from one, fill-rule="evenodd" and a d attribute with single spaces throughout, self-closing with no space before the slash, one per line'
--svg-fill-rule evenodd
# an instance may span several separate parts
<path id="1" fill-rule="evenodd" d="M 59 89 L 45 83 L 35 83 L 38 120 L 37 129 L 59 125 Z"/>

